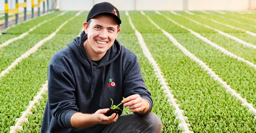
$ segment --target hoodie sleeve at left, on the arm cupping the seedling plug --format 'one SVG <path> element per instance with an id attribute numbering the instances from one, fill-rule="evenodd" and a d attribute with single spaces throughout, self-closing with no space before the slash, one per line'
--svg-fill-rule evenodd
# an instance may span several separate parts
<path id="1" fill-rule="evenodd" d="M 49 64 L 48 67 L 48 102 L 54 118 L 64 128 L 71 126 L 71 116 L 78 111 L 72 78 L 60 67 Z"/>

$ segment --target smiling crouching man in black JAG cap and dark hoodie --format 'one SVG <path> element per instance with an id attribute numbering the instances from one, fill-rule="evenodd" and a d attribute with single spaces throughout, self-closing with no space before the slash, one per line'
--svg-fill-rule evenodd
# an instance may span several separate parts
<path id="1" fill-rule="evenodd" d="M 116 40 L 120 24 L 116 7 L 96 4 L 80 37 L 52 56 L 42 133 L 161 132 L 137 57 Z M 106 116 L 110 98 L 133 114 Z"/>

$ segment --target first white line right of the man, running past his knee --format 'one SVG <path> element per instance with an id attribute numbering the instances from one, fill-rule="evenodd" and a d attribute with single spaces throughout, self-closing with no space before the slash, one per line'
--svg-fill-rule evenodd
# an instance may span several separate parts
<path id="1" fill-rule="evenodd" d="M 171 90 L 169 90 L 170 87 L 168 86 L 168 83 L 166 82 L 166 79 L 164 79 L 163 72 L 161 72 L 160 67 L 158 66 L 158 64 L 156 63 L 154 58 L 152 57 L 149 49 L 147 48 L 147 46 L 144 42 L 144 39 L 143 39 L 141 33 L 138 32 L 138 30 L 135 29 L 135 27 L 132 23 L 132 20 L 131 20 L 127 11 L 125 12 L 125 14 L 129 18 L 129 22 L 132 26 L 132 29 L 135 30 L 135 34 L 137 35 L 138 41 L 141 45 L 141 48 L 142 48 L 142 51 L 143 51 L 144 55 L 147 57 L 147 59 L 149 60 L 149 62 L 152 65 L 152 67 L 154 68 L 155 75 L 157 76 L 158 80 L 160 81 L 161 89 L 163 89 L 164 92 L 167 93 L 166 96 L 168 96 L 168 101 L 171 103 L 171 106 L 175 109 L 174 114 L 177 116 L 176 120 L 179 122 L 179 129 L 184 131 L 182 133 L 193 133 L 188 128 L 188 126 L 190 126 L 190 124 L 188 123 L 189 122 L 188 117 L 183 116 L 184 111 L 179 108 L 179 104 L 176 103 L 177 99 L 175 99 L 174 95 L 171 94 Z"/>

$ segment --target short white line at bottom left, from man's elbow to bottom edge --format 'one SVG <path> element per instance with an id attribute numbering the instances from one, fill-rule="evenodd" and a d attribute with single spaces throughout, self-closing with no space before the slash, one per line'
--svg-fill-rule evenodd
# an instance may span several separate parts
<path id="1" fill-rule="evenodd" d="M 26 109 L 26 111 L 21 112 L 22 115 L 20 118 L 15 119 L 15 126 L 10 126 L 10 132 L 9 133 L 16 133 L 17 131 L 22 131 L 22 124 L 24 122 L 28 122 L 28 119 L 26 118 L 28 114 L 32 114 L 31 110 L 35 107 L 35 104 L 39 105 L 39 100 L 42 98 L 42 95 L 47 92 L 48 90 L 48 81 L 46 80 L 45 84 L 43 84 L 43 87 L 39 89 L 40 91 L 37 93 L 37 95 L 33 98 L 34 100 L 29 101 L 29 106 Z"/>

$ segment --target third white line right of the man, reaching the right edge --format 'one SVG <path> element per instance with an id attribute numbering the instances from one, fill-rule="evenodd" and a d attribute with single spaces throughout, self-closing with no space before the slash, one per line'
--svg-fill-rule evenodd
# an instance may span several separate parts
<path id="1" fill-rule="evenodd" d="M 184 29 L 190 31 L 191 34 L 195 35 L 197 38 L 201 39 L 201 40 L 204 41 L 205 43 L 210 44 L 211 46 L 213 46 L 213 47 L 216 48 L 217 50 L 221 51 L 222 53 L 226 54 L 227 56 L 230 56 L 230 57 L 232 57 L 232 58 L 235 58 L 235 59 L 238 59 L 238 60 L 240 60 L 240 61 L 243 61 L 243 62 L 245 62 L 246 64 L 248 64 L 249 66 L 251 66 L 251 67 L 253 67 L 254 69 L 256 69 L 256 65 L 253 64 L 252 62 L 250 62 L 250 61 L 248 61 L 248 60 L 246 60 L 246 59 L 243 59 L 243 58 L 241 58 L 240 56 L 237 56 L 237 55 L 231 53 L 230 51 L 227 51 L 225 48 L 222 48 L 221 46 L 218 46 L 216 43 L 213 43 L 212 41 L 210 41 L 210 40 L 208 40 L 207 38 L 203 37 L 203 36 L 200 35 L 199 33 L 196 33 L 196 32 L 194 32 L 193 30 L 188 29 L 188 28 L 186 28 L 185 26 L 183 26 L 183 25 L 181 25 L 181 24 L 175 22 L 174 20 L 172 20 L 171 18 L 167 17 L 166 15 L 163 15 L 163 14 L 161 14 L 161 13 L 158 12 L 158 11 L 156 11 L 156 12 L 157 12 L 157 14 L 160 14 L 160 15 L 166 17 L 168 20 L 170 20 L 170 21 L 173 22 L 174 24 L 179 25 L 180 27 L 182 27 L 182 28 L 184 28 Z"/>

